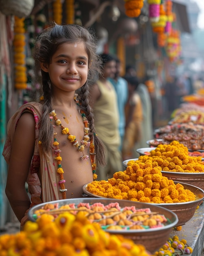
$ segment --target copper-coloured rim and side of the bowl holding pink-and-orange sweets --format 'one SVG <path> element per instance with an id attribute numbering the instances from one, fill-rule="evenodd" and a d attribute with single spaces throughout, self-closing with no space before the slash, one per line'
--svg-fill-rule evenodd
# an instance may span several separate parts
<path id="1" fill-rule="evenodd" d="M 52 202 L 46 202 L 42 204 L 38 204 L 32 207 L 29 210 L 28 216 L 29 220 L 35 222 L 35 218 L 33 218 L 33 214 L 36 210 L 41 209 L 45 204 L 55 204 L 58 203 L 59 206 L 65 204 L 79 204 L 80 202 L 94 204 L 100 202 L 104 205 L 110 204 L 111 202 L 118 202 L 120 207 L 126 206 L 134 206 L 137 209 L 149 208 L 152 212 L 158 212 L 158 214 L 164 215 L 168 219 L 168 224 L 164 227 L 152 228 L 152 229 L 130 229 L 130 230 L 108 230 L 110 234 L 120 234 L 125 236 L 126 238 L 130 238 L 134 240 L 136 244 L 142 244 L 145 248 L 154 253 L 157 251 L 165 242 L 168 240 L 170 232 L 173 227 L 175 227 L 178 223 L 178 217 L 175 213 L 170 211 L 169 209 L 165 209 L 158 205 L 147 204 L 142 202 L 133 202 L 129 200 L 116 200 L 111 198 L 76 198 L 76 199 L 65 199 L 65 200 L 57 200 Z"/>

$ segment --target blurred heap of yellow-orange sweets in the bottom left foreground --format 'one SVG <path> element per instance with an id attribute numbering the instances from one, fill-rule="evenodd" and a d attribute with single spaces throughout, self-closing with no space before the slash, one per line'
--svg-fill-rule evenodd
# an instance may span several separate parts
<path id="1" fill-rule="evenodd" d="M 143 245 L 109 234 L 82 212 L 44 214 L 24 231 L 0 236 L 1 256 L 150 256 Z"/>

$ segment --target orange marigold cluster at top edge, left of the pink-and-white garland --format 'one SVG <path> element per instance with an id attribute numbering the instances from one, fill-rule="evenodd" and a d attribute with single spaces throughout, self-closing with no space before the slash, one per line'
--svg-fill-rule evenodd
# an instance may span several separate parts
<path id="1" fill-rule="evenodd" d="M 138 17 L 143 8 L 143 0 L 124 0 L 125 1 L 125 14 L 130 18 Z"/>

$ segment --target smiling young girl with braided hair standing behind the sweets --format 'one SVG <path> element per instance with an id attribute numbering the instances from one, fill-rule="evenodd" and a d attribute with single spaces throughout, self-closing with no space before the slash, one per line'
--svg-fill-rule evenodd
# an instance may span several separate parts
<path id="1" fill-rule="evenodd" d="M 83 185 L 97 177 L 97 162 L 105 162 L 88 103 L 101 65 L 94 36 L 78 25 L 54 25 L 37 38 L 34 58 L 44 99 L 11 117 L 3 151 L 6 195 L 22 227 L 29 207 L 82 197 Z"/>

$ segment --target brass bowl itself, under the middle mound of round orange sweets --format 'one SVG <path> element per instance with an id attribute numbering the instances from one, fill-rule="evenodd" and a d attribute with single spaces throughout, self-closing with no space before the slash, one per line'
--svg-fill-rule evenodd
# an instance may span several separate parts
<path id="1" fill-rule="evenodd" d="M 183 203 L 161 203 L 161 204 L 154 204 L 151 203 L 151 205 L 157 205 L 160 207 L 164 207 L 170 211 L 173 211 L 177 216 L 178 216 L 178 223 L 176 226 L 184 225 L 187 221 L 189 221 L 197 208 L 198 205 L 200 205 L 204 199 L 204 191 L 197 186 L 193 186 L 190 184 L 182 183 L 182 182 L 174 182 L 180 183 L 184 186 L 184 189 L 189 189 L 191 192 L 193 192 L 196 195 L 196 200 L 195 201 L 190 201 L 190 202 L 183 202 Z M 99 195 L 94 195 L 93 193 L 90 193 L 87 190 L 87 185 L 83 186 L 83 192 L 92 196 L 92 197 L 97 197 L 97 198 L 103 198 Z M 127 200 L 128 201 L 128 200 Z M 147 203 L 144 203 L 147 204 Z"/>

